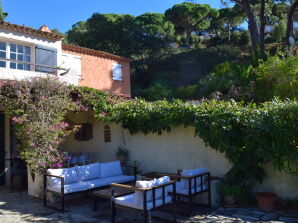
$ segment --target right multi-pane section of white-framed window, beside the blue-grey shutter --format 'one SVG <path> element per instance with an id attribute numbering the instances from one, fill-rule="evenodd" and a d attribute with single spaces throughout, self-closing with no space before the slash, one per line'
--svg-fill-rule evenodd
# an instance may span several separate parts
<path id="1" fill-rule="evenodd" d="M 10 62 L 11 69 L 30 70 L 30 64 L 27 64 L 31 62 L 30 47 L 10 43 L 9 58 L 11 60 L 16 61 L 16 62 Z M 22 62 L 26 62 L 26 63 L 22 63 Z"/>

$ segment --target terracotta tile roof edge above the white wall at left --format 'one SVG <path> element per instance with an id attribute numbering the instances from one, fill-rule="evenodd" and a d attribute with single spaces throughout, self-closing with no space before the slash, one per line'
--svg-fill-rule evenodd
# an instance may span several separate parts
<path id="1" fill-rule="evenodd" d="M 28 26 L 21 26 L 21 25 L 16 25 L 16 24 L 3 22 L 3 21 L 0 21 L 0 28 L 15 31 L 15 32 L 22 32 L 33 36 L 48 38 L 52 40 L 62 40 L 64 38 L 64 35 L 51 33 L 51 32 L 44 32 L 38 29 L 33 29 Z"/>

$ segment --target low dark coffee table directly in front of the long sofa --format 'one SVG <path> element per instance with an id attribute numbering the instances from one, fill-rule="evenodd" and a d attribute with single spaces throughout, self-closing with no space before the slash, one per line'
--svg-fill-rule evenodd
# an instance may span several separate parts
<path id="1" fill-rule="evenodd" d="M 128 184 L 129 185 L 129 184 Z M 108 199 L 111 200 L 112 198 L 112 192 L 114 191 L 114 197 L 121 197 L 128 194 L 132 194 L 135 191 L 127 188 L 121 188 L 121 187 L 107 187 L 100 190 L 93 191 L 93 209 L 94 211 L 97 211 L 97 202 L 100 199 Z"/>

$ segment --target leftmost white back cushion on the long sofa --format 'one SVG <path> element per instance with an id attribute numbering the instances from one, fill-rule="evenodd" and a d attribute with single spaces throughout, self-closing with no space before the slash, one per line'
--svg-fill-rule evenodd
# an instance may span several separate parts
<path id="1" fill-rule="evenodd" d="M 80 180 L 75 167 L 65 169 L 48 169 L 47 173 L 64 177 L 64 184 L 76 183 Z M 50 180 L 49 183 L 51 187 L 59 187 L 61 185 L 61 179 L 59 178 L 49 177 L 48 179 Z"/>

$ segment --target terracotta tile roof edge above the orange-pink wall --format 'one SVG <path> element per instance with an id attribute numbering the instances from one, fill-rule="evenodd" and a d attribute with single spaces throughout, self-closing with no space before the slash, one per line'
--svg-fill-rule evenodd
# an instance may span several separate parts
<path id="1" fill-rule="evenodd" d="M 131 59 L 128 59 L 128 58 L 125 58 L 125 57 L 121 57 L 121 56 L 117 56 L 117 55 L 114 55 L 114 54 L 106 53 L 106 52 L 100 51 L 100 50 L 93 50 L 93 49 L 89 49 L 89 48 L 86 48 L 86 47 L 75 46 L 75 45 L 72 45 L 72 44 L 62 44 L 62 49 L 72 51 L 72 52 L 76 52 L 76 53 L 82 53 L 82 54 L 87 54 L 87 55 L 97 56 L 97 57 L 104 57 L 104 58 L 119 60 L 119 61 L 124 61 L 124 62 L 130 62 L 131 61 Z"/>

